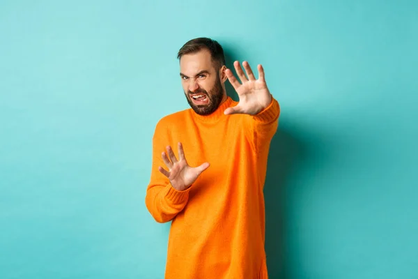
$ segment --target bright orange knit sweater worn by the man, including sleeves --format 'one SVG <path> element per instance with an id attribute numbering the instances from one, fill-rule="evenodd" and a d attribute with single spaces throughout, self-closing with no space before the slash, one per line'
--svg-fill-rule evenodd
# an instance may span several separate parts
<path id="1" fill-rule="evenodd" d="M 153 165 L 146 192 L 148 211 L 171 222 L 166 279 L 268 278 L 265 264 L 263 186 L 279 103 L 262 112 L 225 115 L 228 98 L 201 116 L 189 108 L 164 116 L 153 136 Z M 161 153 L 183 143 L 192 167 L 210 163 L 190 188 L 174 189 L 161 174 Z"/>

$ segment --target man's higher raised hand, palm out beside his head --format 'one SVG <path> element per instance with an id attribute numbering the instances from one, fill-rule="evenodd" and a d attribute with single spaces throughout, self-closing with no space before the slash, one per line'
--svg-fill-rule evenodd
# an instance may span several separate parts
<path id="1" fill-rule="evenodd" d="M 252 70 L 247 61 L 244 61 L 242 66 L 244 66 L 248 78 L 242 71 L 238 61 L 235 61 L 233 66 L 235 67 L 237 75 L 241 80 L 241 84 L 235 78 L 230 69 L 226 70 L 226 77 L 228 77 L 229 82 L 231 82 L 231 85 L 237 92 L 240 100 L 238 105 L 235 107 L 227 108 L 224 111 L 224 114 L 254 115 L 258 112 L 261 112 L 261 110 L 263 110 L 265 107 L 268 107 L 272 100 L 272 96 L 268 90 L 267 84 L 265 83 L 263 66 L 257 66 L 258 80 L 256 80 L 256 77 L 254 77 L 254 73 L 252 73 Z"/>

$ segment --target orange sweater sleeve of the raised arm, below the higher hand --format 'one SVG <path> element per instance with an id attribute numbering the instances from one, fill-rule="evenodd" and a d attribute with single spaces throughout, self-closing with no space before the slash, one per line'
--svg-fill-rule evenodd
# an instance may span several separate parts
<path id="1" fill-rule="evenodd" d="M 256 153 L 270 146 L 270 141 L 277 131 L 279 124 L 280 106 L 272 97 L 270 105 L 255 115 L 245 117 L 245 130 Z"/>

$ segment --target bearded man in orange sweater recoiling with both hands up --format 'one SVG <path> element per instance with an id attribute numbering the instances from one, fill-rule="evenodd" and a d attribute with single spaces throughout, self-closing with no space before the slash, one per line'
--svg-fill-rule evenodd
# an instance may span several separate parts
<path id="1" fill-rule="evenodd" d="M 257 80 L 235 61 L 238 82 L 215 40 L 190 40 L 178 59 L 191 109 L 158 121 L 146 192 L 153 218 L 172 221 L 165 278 L 268 278 L 263 186 L 279 103 L 261 65 Z"/>

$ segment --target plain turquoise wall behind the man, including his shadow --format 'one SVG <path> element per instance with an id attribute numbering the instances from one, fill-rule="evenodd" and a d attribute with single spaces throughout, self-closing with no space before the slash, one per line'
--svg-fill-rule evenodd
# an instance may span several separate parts
<path id="1" fill-rule="evenodd" d="M 163 278 L 151 137 L 198 36 L 281 104 L 270 277 L 418 278 L 417 34 L 417 1 L 1 1 L 0 278 Z"/>

